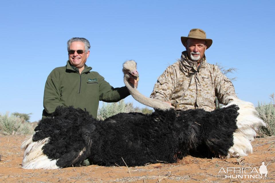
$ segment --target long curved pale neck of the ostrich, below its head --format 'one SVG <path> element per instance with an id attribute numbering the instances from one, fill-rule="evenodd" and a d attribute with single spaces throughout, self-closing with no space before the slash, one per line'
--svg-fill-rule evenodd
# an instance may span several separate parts
<path id="1" fill-rule="evenodd" d="M 154 109 L 160 109 L 160 110 L 168 110 L 170 109 L 170 105 L 166 102 L 162 102 L 160 100 L 156 100 L 153 98 L 148 98 L 144 95 L 142 95 L 136 87 L 130 85 L 130 83 L 127 81 L 127 77 L 124 77 L 124 83 L 126 87 L 128 88 L 131 96 L 137 101 L 140 102 L 141 104 L 144 104 L 146 106 L 152 107 Z"/>

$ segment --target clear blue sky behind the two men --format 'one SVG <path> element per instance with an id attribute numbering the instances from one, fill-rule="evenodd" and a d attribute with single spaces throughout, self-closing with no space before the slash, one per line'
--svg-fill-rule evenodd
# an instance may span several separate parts
<path id="1" fill-rule="evenodd" d="M 180 37 L 201 28 L 213 39 L 209 63 L 238 69 L 241 100 L 270 102 L 275 92 L 275 1 L 3 1 L 0 112 L 41 118 L 46 78 L 68 59 L 66 42 L 91 43 L 87 65 L 114 87 L 122 63 L 137 62 L 138 89 L 150 96 L 165 68 L 185 50 Z M 130 96 L 125 102 L 138 104 Z"/>

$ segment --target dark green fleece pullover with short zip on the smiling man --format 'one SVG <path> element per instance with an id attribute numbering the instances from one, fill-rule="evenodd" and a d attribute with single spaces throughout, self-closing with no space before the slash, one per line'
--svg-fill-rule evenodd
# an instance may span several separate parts
<path id="1" fill-rule="evenodd" d="M 47 78 L 44 90 L 42 118 L 50 116 L 57 106 L 74 106 L 87 110 L 97 118 L 99 100 L 118 102 L 127 97 L 127 87 L 113 88 L 99 73 L 85 65 L 79 74 L 76 67 L 67 65 L 55 68 Z"/>

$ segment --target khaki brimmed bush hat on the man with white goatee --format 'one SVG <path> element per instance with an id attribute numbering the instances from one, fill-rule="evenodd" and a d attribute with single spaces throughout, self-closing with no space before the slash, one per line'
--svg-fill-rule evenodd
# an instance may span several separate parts
<path id="1" fill-rule="evenodd" d="M 212 39 L 206 39 L 206 33 L 205 31 L 201 30 L 201 29 L 191 29 L 188 37 L 181 37 L 181 42 L 184 45 L 187 41 L 188 38 L 194 38 L 194 39 L 202 39 L 206 41 L 206 46 L 208 49 L 211 45 L 212 45 Z"/>

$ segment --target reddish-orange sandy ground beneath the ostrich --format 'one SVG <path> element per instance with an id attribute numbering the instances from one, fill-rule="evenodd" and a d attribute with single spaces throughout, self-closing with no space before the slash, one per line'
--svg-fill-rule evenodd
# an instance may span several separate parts
<path id="1" fill-rule="evenodd" d="M 59 170 L 21 168 L 23 152 L 20 145 L 25 138 L 27 137 L 0 136 L 0 182 L 275 182 L 274 136 L 256 138 L 252 143 L 253 154 L 243 158 L 222 160 L 187 156 L 175 164 L 158 163 L 129 168 L 91 165 Z M 260 176 L 256 171 L 259 172 L 263 161 L 265 165 L 268 164 L 267 177 L 256 178 Z M 242 178 L 234 178 L 238 172 L 227 172 L 227 168 L 235 168 L 237 171 L 237 168 L 242 167 L 247 167 L 247 174 L 239 174 Z M 252 175 L 252 178 L 244 175 Z"/>

